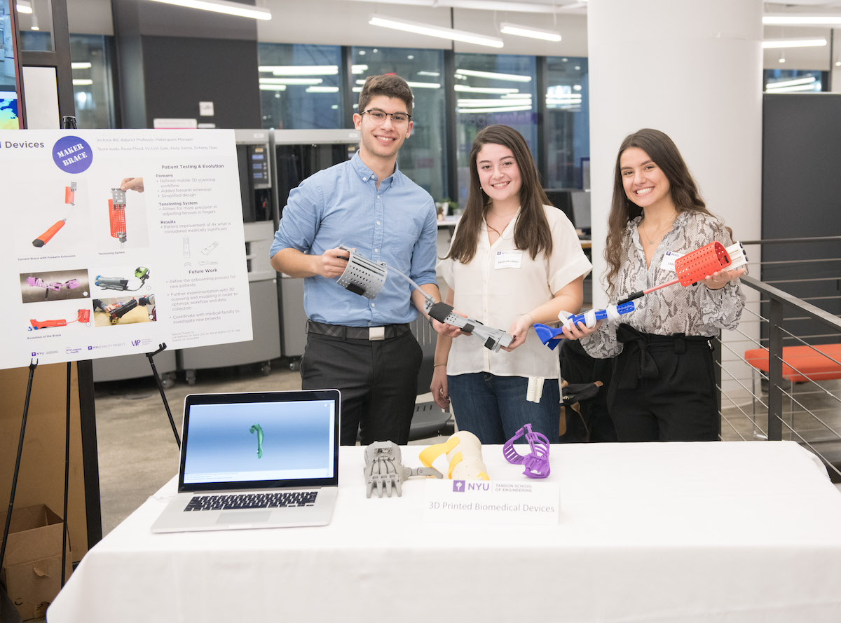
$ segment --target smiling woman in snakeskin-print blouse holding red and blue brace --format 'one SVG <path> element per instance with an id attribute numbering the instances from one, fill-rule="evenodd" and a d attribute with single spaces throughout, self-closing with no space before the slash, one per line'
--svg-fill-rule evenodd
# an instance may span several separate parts
<path id="1" fill-rule="evenodd" d="M 676 257 L 733 232 L 711 214 L 674 142 L 656 129 L 622 141 L 605 250 L 611 304 L 672 281 Z M 596 358 L 616 356 L 607 404 L 620 441 L 715 441 L 720 420 L 710 339 L 738 325 L 744 295 L 721 271 L 638 298 L 622 324 L 566 331 Z"/>

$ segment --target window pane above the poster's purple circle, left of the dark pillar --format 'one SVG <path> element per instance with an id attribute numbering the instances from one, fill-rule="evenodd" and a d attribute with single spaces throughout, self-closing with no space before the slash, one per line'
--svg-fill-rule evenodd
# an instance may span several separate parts
<path id="1" fill-rule="evenodd" d="M 71 34 L 73 98 L 79 128 L 114 128 L 114 82 L 108 39 L 99 34 Z"/>

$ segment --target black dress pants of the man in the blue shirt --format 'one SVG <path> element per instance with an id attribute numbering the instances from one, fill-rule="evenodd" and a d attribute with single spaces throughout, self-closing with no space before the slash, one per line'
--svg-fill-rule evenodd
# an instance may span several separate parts
<path id="1" fill-rule="evenodd" d="M 409 441 L 423 353 L 410 331 L 368 341 L 307 334 L 301 387 L 341 392 L 341 445 Z"/>

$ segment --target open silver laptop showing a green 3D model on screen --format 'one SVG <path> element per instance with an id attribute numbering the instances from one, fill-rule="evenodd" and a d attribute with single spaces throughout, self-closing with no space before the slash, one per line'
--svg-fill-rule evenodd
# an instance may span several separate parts
<path id="1" fill-rule="evenodd" d="M 178 493 L 151 531 L 330 523 L 339 401 L 337 389 L 188 395 Z"/>

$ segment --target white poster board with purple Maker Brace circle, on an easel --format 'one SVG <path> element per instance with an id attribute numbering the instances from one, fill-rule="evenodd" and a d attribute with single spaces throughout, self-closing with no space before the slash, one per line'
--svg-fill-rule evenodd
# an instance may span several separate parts
<path id="1" fill-rule="evenodd" d="M 0 131 L 0 368 L 251 340 L 233 130 Z"/>

